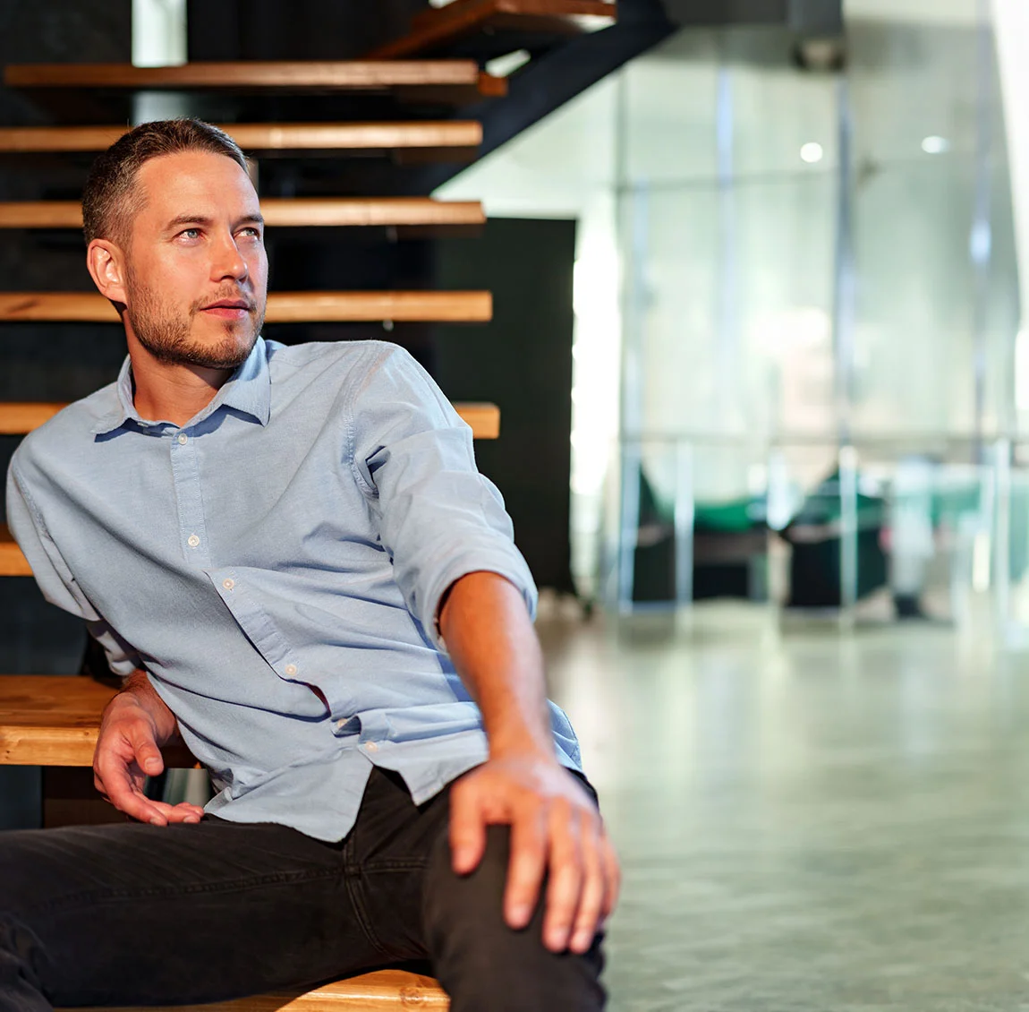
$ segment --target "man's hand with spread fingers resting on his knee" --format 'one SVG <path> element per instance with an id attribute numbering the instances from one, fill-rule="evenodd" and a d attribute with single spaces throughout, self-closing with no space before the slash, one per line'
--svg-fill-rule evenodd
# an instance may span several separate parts
<path id="1" fill-rule="evenodd" d="M 511 828 L 504 919 L 525 928 L 548 872 L 543 944 L 554 952 L 586 952 L 619 885 L 617 859 L 593 799 L 553 758 L 490 759 L 451 792 L 455 872 L 474 870 L 486 827 L 497 823 Z"/>

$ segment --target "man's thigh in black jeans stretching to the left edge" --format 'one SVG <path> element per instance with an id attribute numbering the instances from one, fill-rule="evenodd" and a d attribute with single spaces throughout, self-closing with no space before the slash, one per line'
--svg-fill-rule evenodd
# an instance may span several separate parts
<path id="1" fill-rule="evenodd" d="M 0 834 L 0 918 L 57 1005 L 215 1001 L 384 962 L 340 846 L 205 818 Z"/>

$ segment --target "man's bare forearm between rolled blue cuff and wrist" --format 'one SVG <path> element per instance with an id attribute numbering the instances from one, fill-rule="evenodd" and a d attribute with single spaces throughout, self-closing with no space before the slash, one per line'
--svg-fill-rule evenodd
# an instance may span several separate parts
<path id="1" fill-rule="evenodd" d="M 439 631 L 483 711 L 490 754 L 554 758 L 539 640 L 521 592 L 495 572 L 456 581 Z"/>

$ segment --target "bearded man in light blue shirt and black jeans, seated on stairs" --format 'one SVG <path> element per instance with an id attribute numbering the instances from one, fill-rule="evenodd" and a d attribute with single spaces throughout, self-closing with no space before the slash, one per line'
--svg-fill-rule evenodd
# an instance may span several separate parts
<path id="1" fill-rule="evenodd" d="M 0 1009 L 209 1002 L 429 959 L 455 1012 L 594 1009 L 618 872 L 470 433 L 379 342 L 259 337 L 235 143 L 147 124 L 83 195 L 115 384 L 28 437 L 8 516 L 128 678 L 138 824 L 0 836 Z M 180 734 L 217 796 L 147 799 Z"/>

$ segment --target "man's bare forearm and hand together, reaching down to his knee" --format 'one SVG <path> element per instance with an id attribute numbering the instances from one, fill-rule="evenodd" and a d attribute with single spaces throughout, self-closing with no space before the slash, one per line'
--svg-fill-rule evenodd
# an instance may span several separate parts
<path id="1" fill-rule="evenodd" d="M 614 906 L 618 864 L 593 799 L 557 760 L 542 652 L 522 593 L 494 572 L 467 573 L 443 600 L 439 631 L 490 745 L 487 762 L 452 790 L 454 870 L 475 868 L 488 825 L 509 825 L 507 923 L 529 922 L 546 874 L 543 943 L 584 952 Z"/>

